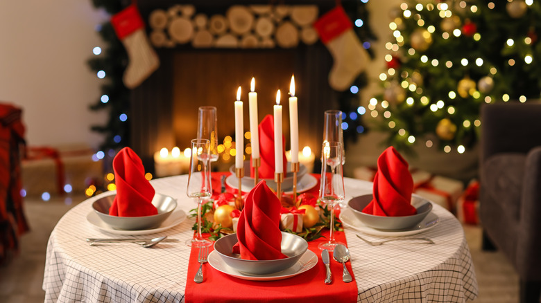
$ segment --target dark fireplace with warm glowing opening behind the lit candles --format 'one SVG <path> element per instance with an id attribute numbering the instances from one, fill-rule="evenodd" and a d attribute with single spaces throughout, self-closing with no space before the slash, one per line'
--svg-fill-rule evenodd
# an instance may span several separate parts
<path id="1" fill-rule="evenodd" d="M 197 12 L 227 10 L 230 1 L 194 2 Z M 245 1 L 246 4 L 254 1 Z M 290 3 L 291 2 L 291 3 Z M 333 1 L 288 1 L 288 5 L 312 4 L 319 15 L 334 6 Z M 239 4 L 235 1 L 234 4 Z M 242 2 L 240 3 L 243 4 Z M 261 4 L 268 4 L 261 2 Z M 173 1 L 138 1 L 145 20 L 155 10 L 167 10 Z M 203 5 L 203 6 L 202 6 Z M 153 154 L 162 147 L 189 147 L 196 137 L 197 109 L 212 105 L 218 109 L 218 140 L 234 139 L 234 100 L 242 86 L 244 126 L 249 130 L 248 91 L 255 77 L 259 121 L 273 113 L 277 89 L 284 104 L 283 128 L 289 149 L 289 109 L 287 92 L 295 75 L 298 96 L 299 146 L 311 147 L 319 155 L 323 136 L 323 112 L 338 107 L 338 95 L 327 82 L 332 66 L 329 50 L 321 42 L 298 44 L 291 48 L 195 48 L 191 45 L 156 48 L 160 57 L 157 69 L 131 94 L 131 146 L 141 156 L 148 171 L 153 171 Z M 245 141 L 249 143 L 248 140 Z M 249 158 L 249 155 L 246 155 Z M 234 159 L 218 161 L 221 170 Z"/>

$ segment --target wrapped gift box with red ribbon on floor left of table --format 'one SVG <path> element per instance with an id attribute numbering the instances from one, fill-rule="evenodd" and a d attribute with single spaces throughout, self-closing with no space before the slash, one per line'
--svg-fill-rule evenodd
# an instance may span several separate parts
<path id="1" fill-rule="evenodd" d="M 93 158 L 95 152 L 85 145 L 62 147 L 27 147 L 22 160 L 22 187 L 27 196 L 84 194 L 92 181 L 103 178 L 103 160 Z"/>

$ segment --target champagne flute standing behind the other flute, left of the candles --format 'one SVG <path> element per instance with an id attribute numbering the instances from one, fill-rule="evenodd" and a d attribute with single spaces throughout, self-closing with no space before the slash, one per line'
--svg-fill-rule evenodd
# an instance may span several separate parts
<path id="1" fill-rule="evenodd" d="M 218 160 L 218 116 L 216 107 L 199 107 L 197 116 L 197 138 L 209 140 L 210 161 Z"/>

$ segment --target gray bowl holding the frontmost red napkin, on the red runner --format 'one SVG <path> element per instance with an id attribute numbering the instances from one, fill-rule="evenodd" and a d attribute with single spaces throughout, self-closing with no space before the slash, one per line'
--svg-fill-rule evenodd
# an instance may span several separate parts
<path id="1" fill-rule="evenodd" d="M 297 235 L 282 232 L 282 253 L 287 258 L 275 260 L 245 260 L 233 253 L 233 246 L 237 243 L 237 234 L 221 237 L 214 243 L 214 250 L 223 261 L 241 273 L 249 275 L 266 275 L 286 270 L 295 265 L 308 249 L 308 242 Z"/>

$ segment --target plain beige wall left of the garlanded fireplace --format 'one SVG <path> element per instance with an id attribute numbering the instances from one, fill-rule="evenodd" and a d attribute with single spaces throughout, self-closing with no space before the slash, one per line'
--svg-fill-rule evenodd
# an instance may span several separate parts
<path id="1" fill-rule="evenodd" d="M 86 143 L 107 113 L 90 111 L 100 80 L 86 62 L 108 16 L 90 0 L 0 1 L 0 100 L 22 107 L 29 145 Z"/>

